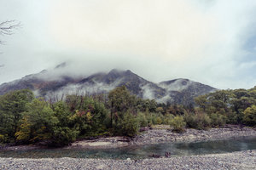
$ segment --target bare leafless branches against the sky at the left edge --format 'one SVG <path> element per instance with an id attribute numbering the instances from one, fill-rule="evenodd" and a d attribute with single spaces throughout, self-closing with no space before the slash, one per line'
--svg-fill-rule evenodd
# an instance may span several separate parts
<path id="1" fill-rule="evenodd" d="M 14 29 L 20 27 L 20 22 L 16 20 L 6 20 L 0 23 L 0 35 L 12 35 Z M 3 41 L 0 40 L 0 44 L 3 44 Z"/>

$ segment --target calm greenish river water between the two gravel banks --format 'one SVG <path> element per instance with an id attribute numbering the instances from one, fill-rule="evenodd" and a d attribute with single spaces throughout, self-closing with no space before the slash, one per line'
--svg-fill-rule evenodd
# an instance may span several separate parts
<path id="1" fill-rule="evenodd" d="M 75 158 L 113 158 L 139 159 L 148 158 L 153 154 L 164 156 L 171 152 L 172 156 L 192 156 L 204 154 L 227 153 L 241 150 L 256 150 L 256 138 L 241 138 L 194 143 L 167 143 L 129 146 L 121 149 L 44 149 L 0 151 L 0 157 L 45 158 L 45 157 L 75 157 Z"/>

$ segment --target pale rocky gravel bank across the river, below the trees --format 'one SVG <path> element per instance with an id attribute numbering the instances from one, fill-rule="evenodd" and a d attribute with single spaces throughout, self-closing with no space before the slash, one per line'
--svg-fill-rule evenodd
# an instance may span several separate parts
<path id="1" fill-rule="evenodd" d="M 206 140 L 232 139 L 256 136 L 256 129 L 251 127 L 228 126 L 196 130 L 188 128 L 185 133 L 173 133 L 168 126 L 157 126 L 138 134 L 135 138 L 110 137 L 74 142 L 67 149 L 72 148 L 116 148 L 127 145 L 161 144 L 168 142 L 195 142 Z"/>

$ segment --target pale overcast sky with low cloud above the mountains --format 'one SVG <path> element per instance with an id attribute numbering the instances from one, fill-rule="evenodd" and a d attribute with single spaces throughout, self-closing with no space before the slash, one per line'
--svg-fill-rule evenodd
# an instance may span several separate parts
<path id="1" fill-rule="evenodd" d="M 255 0 L 0 0 L 0 83 L 66 61 L 89 75 L 113 68 L 152 82 L 256 85 Z"/>

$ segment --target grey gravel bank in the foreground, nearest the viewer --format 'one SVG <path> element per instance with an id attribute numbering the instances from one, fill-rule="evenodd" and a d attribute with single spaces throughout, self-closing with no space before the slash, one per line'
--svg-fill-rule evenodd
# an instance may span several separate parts
<path id="1" fill-rule="evenodd" d="M 44 158 L 0 158 L 0 169 L 256 169 L 256 150 L 143 160 Z"/>

